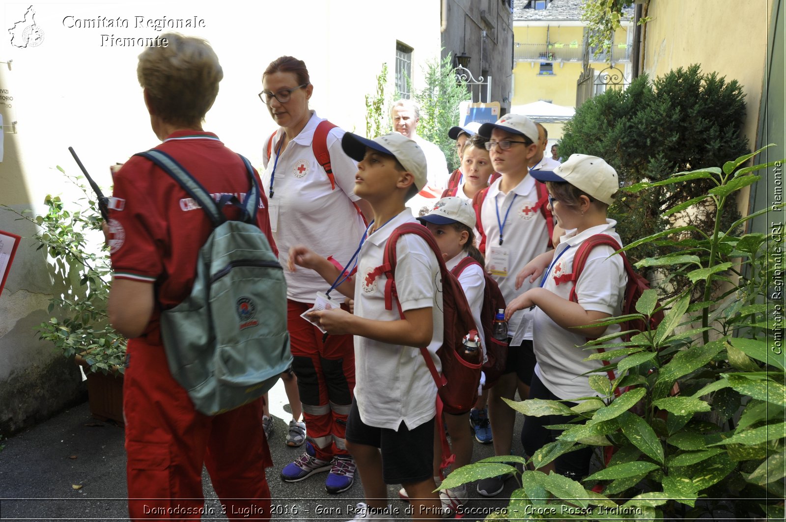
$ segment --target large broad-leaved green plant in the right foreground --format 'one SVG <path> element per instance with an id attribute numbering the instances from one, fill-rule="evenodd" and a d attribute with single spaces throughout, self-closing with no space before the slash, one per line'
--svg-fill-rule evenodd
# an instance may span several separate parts
<path id="1" fill-rule="evenodd" d="M 575 417 L 574 423 L 555 428 L 561 430 L 555 442 L 526 460 L 496 457 L 465 466 L 450 474 L 443 488 L 515 473 L 499 462 L 518 461 L 529 468 L 520 474 L 509 513 L 535 510 L 539 518 L 559 520 L 685 520 L 724 509 L 738 519 L 782 520 L 786 354 L 778 344 L 783 333 L 778 318 L 784 311 L 782 300 L 773 302 L 768 295 L 777 279 L 775 267 L 781 266 L 776 261 L 782 260 L 782 237 L 780 232 L 735 233 L 769 208 L 726 227 L 720 219 L 741 189 L 761 179 L 758 171 L 777 163 L 743 166 L 760 152 L 626 189 L 676 189 L 696 179 L 711 183 L 703 195 L 716 213 L 711 229 L 677 226 L 626 247 L 676 244 L 664 255 L 641 259 L 637 267 L 666 268 L 689 285 L 665 303 L 667 313 L 657 329 L 630 332 L 630 340 L 621 343 L 608 344 L 615 334 L 583 347 L 588 360 L 612 361 L 588 373 L 597 398 L 577 398 L 586 400 L 573 407 L 564 402 L 576 400 L 509 402 L 534 417 Z M 685 208 L 681 204 L 666 213 Z M 718 288 L 717 294 L 711 292 Z M 646 320 L 657 303 L 656 290 L 646 291 L 632 317 Z M 603 354 L 593 353 L 597 344 L 604 344 Z M 609 380 L 608 369 L 615 370 L 615 380 Z M 596 454 L 606 448 L 614 453 L 608 461 L 597 458 L 597 471 L 581 481 L 541 471 L 560 455 L 586 446 L 597 448 Z M 718 498 L 729 502 L 704 500 Z"/>

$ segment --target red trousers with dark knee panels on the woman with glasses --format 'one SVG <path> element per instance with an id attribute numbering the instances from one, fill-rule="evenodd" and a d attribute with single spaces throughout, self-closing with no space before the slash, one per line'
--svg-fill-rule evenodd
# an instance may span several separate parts
<path id="1" fill-rule="evenodd" d="M 351 335 L 328 336 L 323 342 L 319 329 L 300 317 L 310 307 L 287 302 L 292 371 L 308 437 L 317 458 L 329 460 L 348 454 L 343 439 L 354 391 L 354 342 Z"/>

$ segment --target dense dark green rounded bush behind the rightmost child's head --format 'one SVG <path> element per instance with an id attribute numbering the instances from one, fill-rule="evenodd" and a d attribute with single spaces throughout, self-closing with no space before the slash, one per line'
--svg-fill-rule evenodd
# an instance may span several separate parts
<path id="1" fill-rule="evenodd" d="M 573 153 L 600 156 L 619 174 L 620 182 L 660 182 L 674 172 L 719 165 L 750 149 L 740 129 L 744 127 L 745 101 L 736 80 L 717 73 L 704 74 L 699 65 L 678 68 L 650 81 L 635 79 L 626 90 L 607 90 L 576 109 L 560 140 L 564 157 Z M 652 186 L 647 191 L 623 193 L 609 209 L 617 220 L 624 244 L 640 237 L 686 224 L 713 230 L 714 219 L 728 226 L 739 218 L 734 208 L 718 214 L 714 200 L 704 197 L 714 183 L 709 178 L 685 179 L 679 184 Z M 665 214 L 668 208 L 676 211 Z M 699 233 L 690 234 L 700 239 Z M 656 253 L 663 245 L 637 244 L 631 259 Z M 689 281 L 675 281 L 677 287 Z"/>

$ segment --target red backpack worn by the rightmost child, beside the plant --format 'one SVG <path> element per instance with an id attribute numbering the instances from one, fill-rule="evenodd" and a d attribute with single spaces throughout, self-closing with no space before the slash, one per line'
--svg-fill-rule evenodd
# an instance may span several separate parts
<path id="1" fill-rule="evenodd" d="M 573 288 L 571 289 L 571 294 L 568 299 L 574 301 L 575 303 L 578 303 L 575 282 L 578 281 L 578 278 L 582 274 L 582 270 L 584 270 L 589 252 L 601 244 L 608 244 L 608 246 L 612 247 L 615 252 L 622 248 L 619 246 L 619 243 L 608 234 L 597 233 L 594 236 L 590 236 L 586 238 L 582 244 L 578 245 L 578 250 L 573 257 L 573 273 L 564 274 L 558 278 L 557 285 L 560 285 L 564 282 L 573 283 Z M 630 263 L 628 263 L 628 259 L 626 258 L 625 254 L 623 254 L 623 252 L 619 252 L 619 255 L 621 255 L 623 258 L 625 272 L 628 275 L 628 282 L 625 285 L 625 297 L 623 299 L 623 311 L 621 312 L 621 315 L 638 314 L 636 311 L 636 302 L 641 297 L 641 293 L 649 289 L 649 281 L 636 273 L 636 270 L 634 270 L 634 267 L 630 266 Z M 660 303 L 656 305 L 657 311 L 649 319 L 649 325 L 647 325 L 641 319 L 631 319 L 629 321 L 620 323 L 620 327 L 622 328 L 621 331 L 625 332 L 627 330 L 640 330 L 641 332 L 645 332 L 647 329 L 655 330 L 658 328 L 660 322 L 663 321 L 663 311 L 658 310 L 659 308 L 661 308 Z M 625 334 L 623 337 L 625 340 L 630 340 L 630 334 Z M 604 349 L 603 347 L 599 346 L 597 347 L 597 351 L 603 353 Z M 604 365 L 610 364 L 608 361 L 601 362 L 603 362 Z M 615 379 L 615 374 L 612 370 L 608 370 L 608 378 L 610 380 Z M 624 390 L 617 388 L 615 392 L 619 396 L 624 392 Z"/>

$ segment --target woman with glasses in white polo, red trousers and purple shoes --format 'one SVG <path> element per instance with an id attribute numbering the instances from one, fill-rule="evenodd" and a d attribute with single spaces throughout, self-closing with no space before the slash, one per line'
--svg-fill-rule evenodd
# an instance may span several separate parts
<path id="1" fill-rule="evenodd" d="M 309 108 L 314 86 L 303 61 L 288 56 L 272 61 L 263 73 L 262 88 L 259 98 L 278 125 L 263 145 L 262 181 L 279 259 L 286 264 L 289 249 L 305 244 L 343 267 L 365 233 L 364 212 L 371 215 L 368 204 L 354 195 L 358 168 L 341 148 L 344 131 Z M 354 461 L 343 440 L 354 389 L 353 339 L 325 336 L 301 315 L 314 306 L 317 292 L 329 293 L 335 306 L 343 303 L 343 296 L 328 292 L 313 270 L 288 271 L 286 279 L 292 370 L 308 442 L 281 478 L 299 482 L 329 472 L 325 491 L 338 494 L 354 481 Z M 290 423 L 290 430 L 296 428 Z"/>

